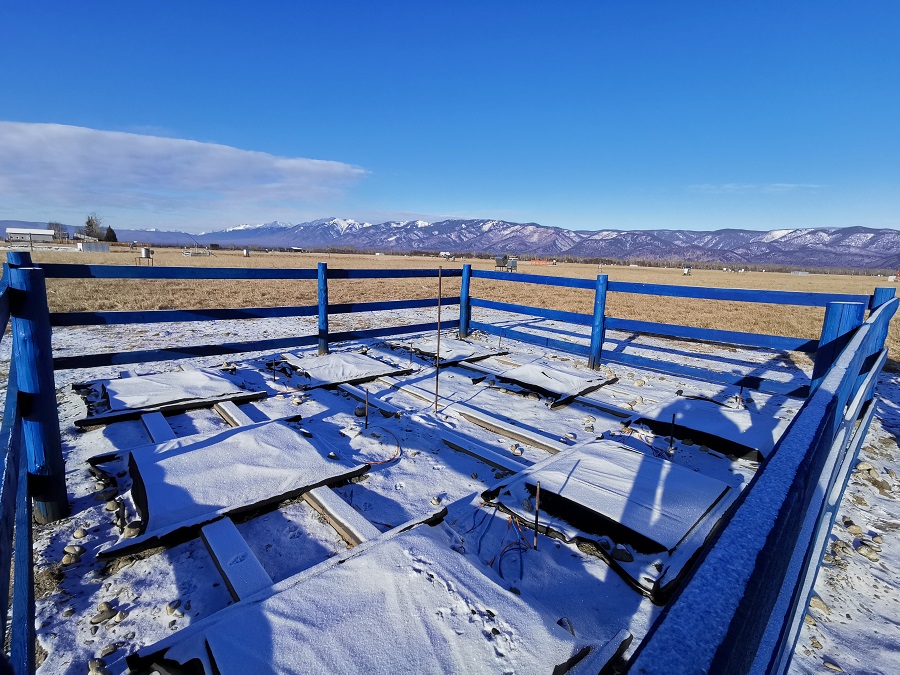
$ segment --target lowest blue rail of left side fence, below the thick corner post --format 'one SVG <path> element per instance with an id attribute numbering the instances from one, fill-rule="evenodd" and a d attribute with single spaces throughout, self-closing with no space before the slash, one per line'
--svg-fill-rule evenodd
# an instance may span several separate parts
<path id="1" fill-rule="evenodd" d="M 33 673 L 34 647 L 34 554 L 31 533 L 31 497 L 26 462 L 20 462 L 16 496 L 16 549 L 13 572 L 13 625 L 9 660 L 16 673 Z"/>

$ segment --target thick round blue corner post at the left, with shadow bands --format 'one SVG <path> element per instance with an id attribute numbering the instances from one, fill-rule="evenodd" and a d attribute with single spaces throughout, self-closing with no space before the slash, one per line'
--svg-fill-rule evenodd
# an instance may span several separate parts
<path id="1" fill-rule="evenodd" d="M 27 253 L 10 253 L 9 306 L 13 354 L 28 454 L 35 518 L 50 523 L 69 514 L 66 467 L 56 410 L 50 313 L 44 273 Z M 25 265 L 28 265 L 27 267 Z"/>

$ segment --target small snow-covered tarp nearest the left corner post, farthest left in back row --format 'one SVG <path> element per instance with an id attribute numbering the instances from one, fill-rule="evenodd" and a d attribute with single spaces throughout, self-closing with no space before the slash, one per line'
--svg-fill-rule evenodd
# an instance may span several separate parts
<path id="1" fill-rule="evenodd" d="M 139 375 L 102 383 L 109 409 L 133 410 L 192 399 L 243 394 L 243 389 L 214 370 L 187 370 Z"/>

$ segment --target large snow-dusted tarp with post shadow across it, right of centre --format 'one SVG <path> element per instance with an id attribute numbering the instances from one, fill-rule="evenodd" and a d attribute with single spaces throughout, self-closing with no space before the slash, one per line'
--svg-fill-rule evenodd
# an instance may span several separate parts
<path id="1" fill-rule="evenodd" d="M 534 519 L 531 499 L 537 482 L 545 503 L 548 493 L 580 505 L 672 551 L 728 492 L 725 483 L 671 461 L 645 455 L 620 443 L 599 440 L 561 453 L 519 474 L 496 501 Z M 541 524 L 576 538 L 580 530 L 558 515 L 541 513 Z M 530 507 L 530 510 L 526 508 Z M 600 519 L 597 519 L 600 521 Z M 602 521 L 597 523 L 603 530 Z"/>

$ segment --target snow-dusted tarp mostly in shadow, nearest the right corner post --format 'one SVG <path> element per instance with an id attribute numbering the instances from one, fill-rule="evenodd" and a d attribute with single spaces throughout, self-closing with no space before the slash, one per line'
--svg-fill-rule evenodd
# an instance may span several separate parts
<path id="1" fill-rule="evenodd" d="M 636 422 L 668 435 L 673 415 L 676 437 L 689 437 L 735 455 L 756 451 L 768 457 L 790 424 L 787 414 L 777 406 L 757 412 L 692 398 L 665 401 L 641 413 Z M 716 439 L 721 442 L 715 443 Z"/>

